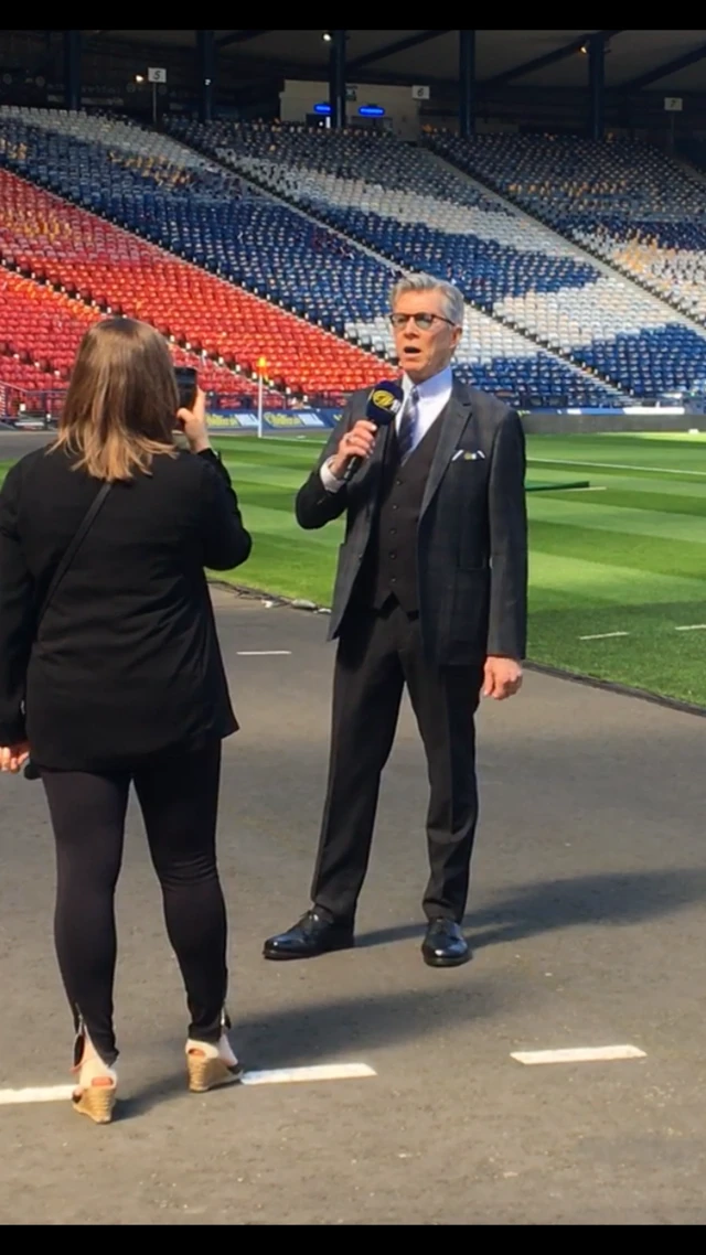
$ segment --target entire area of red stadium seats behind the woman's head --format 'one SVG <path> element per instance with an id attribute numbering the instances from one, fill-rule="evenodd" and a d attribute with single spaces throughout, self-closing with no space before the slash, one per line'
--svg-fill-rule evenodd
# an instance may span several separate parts
<path id="1" fill-rule="evenodd" d="M 232 369 L 204 363 L 201 351 L 246 376 L 264 355 L 269 379 L 293 392 L 349 392 L 379 378 L 371 354 L 6 171 L 0 260 L 30 276 L 0 272 L 0 346 L 8 345 L 0 382 L 15 382 L 8 370 L 16 354 L 44 379 L 34 387 L 46 387 L 48 373 L 65 383 L 80 336 L 106 310 L 185 341 L 190 348 L 175 344 L 175 360 L 197 365 L 207 390 L 227 394 L 242 384 Z"/>

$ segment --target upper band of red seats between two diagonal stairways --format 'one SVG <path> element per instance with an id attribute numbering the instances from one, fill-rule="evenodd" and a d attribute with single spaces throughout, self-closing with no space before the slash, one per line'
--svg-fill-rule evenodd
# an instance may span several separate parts
<path id="1" fill-rule="evenodd" d="M 348 390 L 379 378 L 379 361 L 361 349 L 1 169 L 0 256 L 80 300 L 144 319 L 246 375 L 264 355 L 273 383 L 298 394 Z M 232 390 L 230 371 L 210 379 Z"/>

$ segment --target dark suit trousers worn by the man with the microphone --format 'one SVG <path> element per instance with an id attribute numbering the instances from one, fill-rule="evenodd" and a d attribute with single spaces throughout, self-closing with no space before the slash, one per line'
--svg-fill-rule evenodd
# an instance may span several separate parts
<path id="1" fill-rule="evenodd" d="M 343 625 L 333 690 L 329 779 L 312 901 L 352 921 L 363 886 L 378 803 L 407 684 L 431 787 L 427 919 L 461 922 L 477 823 L 475 714 L 481 668 L 435 670 L 422 656 L 418 617 L 396 602 L 356 610 Z"/>

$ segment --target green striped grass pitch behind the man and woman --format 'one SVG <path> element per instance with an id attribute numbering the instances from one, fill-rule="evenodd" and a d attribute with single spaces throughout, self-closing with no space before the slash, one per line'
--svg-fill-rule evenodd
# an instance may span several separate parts
<path id="1" fill-rule="evenodd" d="M 219 439 L 254 536 L 239 585 L 330 604 L 342 525 L 301 532 L 314 439 Z M 706 437 L 528 438 L 535 663 L 706 707 Z M 0 467 L 0 474 L 3 472 Z"/>

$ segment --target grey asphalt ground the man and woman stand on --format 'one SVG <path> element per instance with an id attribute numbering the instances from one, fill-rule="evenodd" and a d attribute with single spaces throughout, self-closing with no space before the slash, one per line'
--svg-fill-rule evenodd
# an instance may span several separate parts
<path id="1" fill-rule="evenodd" d="M 220 825 L 235 1044 L 250 1069 L 377 1074 L 186 1092 L 183 995 L 133 808 L 119 1118 L 97 1128 L 65 1102 L 0 1106 L 0 1222 L 703 1224 L 706 722 L 531 673 L 518 699 L 484 705 L 476 956 L 431 971 L 425 766 L 406 707 L 358 948 L 268 964 L 264 939 L 308 906 L 333 650 L 322 616 L 214 600 L 242 725 Z M 239 656 L 250 650 L 291 655 Z M 0 789 L 0 1091 L 67 1084 L 46 808 L 39 784 Z M 626 1043 L 647 1057 L 511 1058 Z"/>

